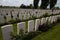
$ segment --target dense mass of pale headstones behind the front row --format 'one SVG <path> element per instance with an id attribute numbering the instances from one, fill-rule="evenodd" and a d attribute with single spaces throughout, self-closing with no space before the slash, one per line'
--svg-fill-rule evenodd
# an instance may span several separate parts
<path id="1" fill-rule="evenodd" d="M 1 9 L 0 10 L 0 15 L 3 17 L 6 17 L 6 22 L 11 21 L 11 14 L 13 16 L 13 19 L 16 20 L 26 20 L 26 19 L 31 19 L 33 17 L 41 17 L 45 13 L 49 13 L 49 15 L 53 14 L 58 14 L 60 10 L 39 10 L 39 9 Z M 32 17 L 33 16 L 33 17 Z M 1 17 L 0 17 L 1 18 Z M 2 20 L 2 19 L 1 19 Z M 3 21 L 3 20 L 2 20 Z M 2 22 L 1 21 L 1 22 Z M 3 21 L 4 22 L 4 21 Z M 2 22 L 2 23 L 3 23 Z"/>

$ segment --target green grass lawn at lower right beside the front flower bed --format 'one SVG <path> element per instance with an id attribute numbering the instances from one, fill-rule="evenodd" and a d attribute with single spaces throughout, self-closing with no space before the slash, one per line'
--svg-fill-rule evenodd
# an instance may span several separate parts
<path id="1" fill-rule="evenodd" d="M 43 32 L 32 40 L 60 40 L 60 23 L 48 32 Z"/>

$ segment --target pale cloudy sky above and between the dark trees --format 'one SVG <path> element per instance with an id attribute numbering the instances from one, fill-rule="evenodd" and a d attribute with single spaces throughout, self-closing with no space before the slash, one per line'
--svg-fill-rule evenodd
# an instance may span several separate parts
<path id="1" fill-rule="evenodd" d="M 33 0 L 0 0 L 0 5 L 3 6 L 20 6 L 21 4 L 29 5 L 33 4 Z M 39 1 L 39 6 L 41 4 L 41 0 Z M 60 0 L 57 0 L 56 6 L 60 7 Z"/>

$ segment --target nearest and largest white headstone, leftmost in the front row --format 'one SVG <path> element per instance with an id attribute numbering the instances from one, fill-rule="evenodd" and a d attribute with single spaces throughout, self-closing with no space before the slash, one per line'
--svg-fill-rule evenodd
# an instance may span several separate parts
<path id="1" fill-rule="evenodd" d="M 3 40 L 11 40 L 11 32 L 13 32 L 12 25 L 2 26 L 1 29 Z"/>

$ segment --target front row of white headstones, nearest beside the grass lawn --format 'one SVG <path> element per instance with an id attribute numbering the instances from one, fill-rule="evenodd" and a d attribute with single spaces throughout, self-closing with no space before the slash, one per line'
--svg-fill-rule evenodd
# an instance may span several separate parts
<path id="1" fill-rule="evenodd" d="M 46 17 L 46 18 L 42 18 L 42 19 L 30 20 L 30 21 L 28 21 L 28 30 L 27 31 L 28 32 L 37 31 L 39 28 L 39 25 L 46 23 L 47 20 L 48 20 L 48 22 L 51 22 L 51 23 L 56 22 L 58 17 L 60 18 L 60 15 L 50 16 L 50 17 Z M 21 29 L 25 33 L 26 22 L 17 23 L 17 34 L 19 34 Z M 11 40 L 10 33 L 13 32 L 13 25 L 2 26 L 1 30 L 2 30 L 3 40 Z"/>

